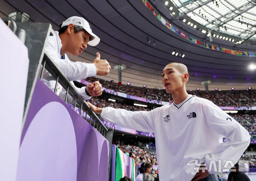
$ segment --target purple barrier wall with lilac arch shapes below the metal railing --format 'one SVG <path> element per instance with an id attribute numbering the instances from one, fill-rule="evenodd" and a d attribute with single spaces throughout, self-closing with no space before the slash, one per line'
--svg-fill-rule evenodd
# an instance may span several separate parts
<path id="1" fill-rule="evenodd" d="M 38 79 L 16 180 L 106 181 L 108 160 L 109 142 Z"/>

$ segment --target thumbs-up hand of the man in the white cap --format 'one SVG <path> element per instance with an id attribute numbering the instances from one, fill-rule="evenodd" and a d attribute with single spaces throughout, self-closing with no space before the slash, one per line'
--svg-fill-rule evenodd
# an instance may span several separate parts
<path id="1" fill-rule="evenodd" d="M 108 61 L 100 60 L 100 53 L 99 52 L 97 52 L 96 58 L 94 59 L 93 63 L 94 63 L 94 65 L 96 67 L 96 70 L 97 70 L 96 75 L 98 75 L 98 76 L 108 75 L 111 67 L 110 67 Z"/>

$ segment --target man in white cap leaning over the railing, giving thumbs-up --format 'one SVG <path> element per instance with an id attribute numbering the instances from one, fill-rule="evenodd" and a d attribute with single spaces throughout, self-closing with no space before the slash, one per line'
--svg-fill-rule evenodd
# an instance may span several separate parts
<path id="1" fill-rule="evenodd" d="M 100 39 L 92 32 L 90 24 L 84 18 L 73 16 L 61 23 L 60 29 L 55 31 L 53 36 L 49 36 L 45 51 L 67 78 L 70 81 L 75 81 L 95 75 L 104 76 L 109 73 L 110 65 L 108 61 L 100 60 L 99 53 L 97 53 L 93 64 L 72 62 L 66 54 L 78 56 L 87 48 L 87 44 L 96 46 L 99 42 Z M 52 80 L 53 77 L 45 71 L 43 82 L 54 90 L 56 81 Z M 102 94 L 101 84 L 98 81 L 77 89 L 85 100 Z M 59 85 L 57 94 L 64 99 L 66 91 Z M 71 97 L 68 97 L 68 102 L 72 102 Z"/>

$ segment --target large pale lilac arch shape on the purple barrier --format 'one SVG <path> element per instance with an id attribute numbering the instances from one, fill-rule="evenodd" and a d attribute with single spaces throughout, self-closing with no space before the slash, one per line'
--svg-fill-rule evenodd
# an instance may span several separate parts
<path id="1" fill-rule="evenodd" d="M 76 178 L 77 145 L 72 119 L 64 105 L 50 102 L 38 111 L 27 129 L 20 146 L 16 181 Z"/>

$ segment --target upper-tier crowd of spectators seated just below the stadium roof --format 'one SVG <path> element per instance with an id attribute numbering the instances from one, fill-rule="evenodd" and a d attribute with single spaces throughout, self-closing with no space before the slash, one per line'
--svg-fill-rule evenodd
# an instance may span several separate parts
<path id="1" fill-rule="evenodd" d="M 86 79 L 89 82 L 99 81 L 103 87 L 112 89 L 116 92 L 122 92 L 137 97 L 164 102 L 173 102 L 172 95 L 167 94 L 163 89 L 150 89 L 145 87 L 135 87 L 131 85 L 118 84 L 113 81 L 105 81 L 95 77 Z M 247 89 L 243 91 L 188 91 L 189 94 L 209 99 L 218 106 L 255 106 L 256 90 Z"/>

